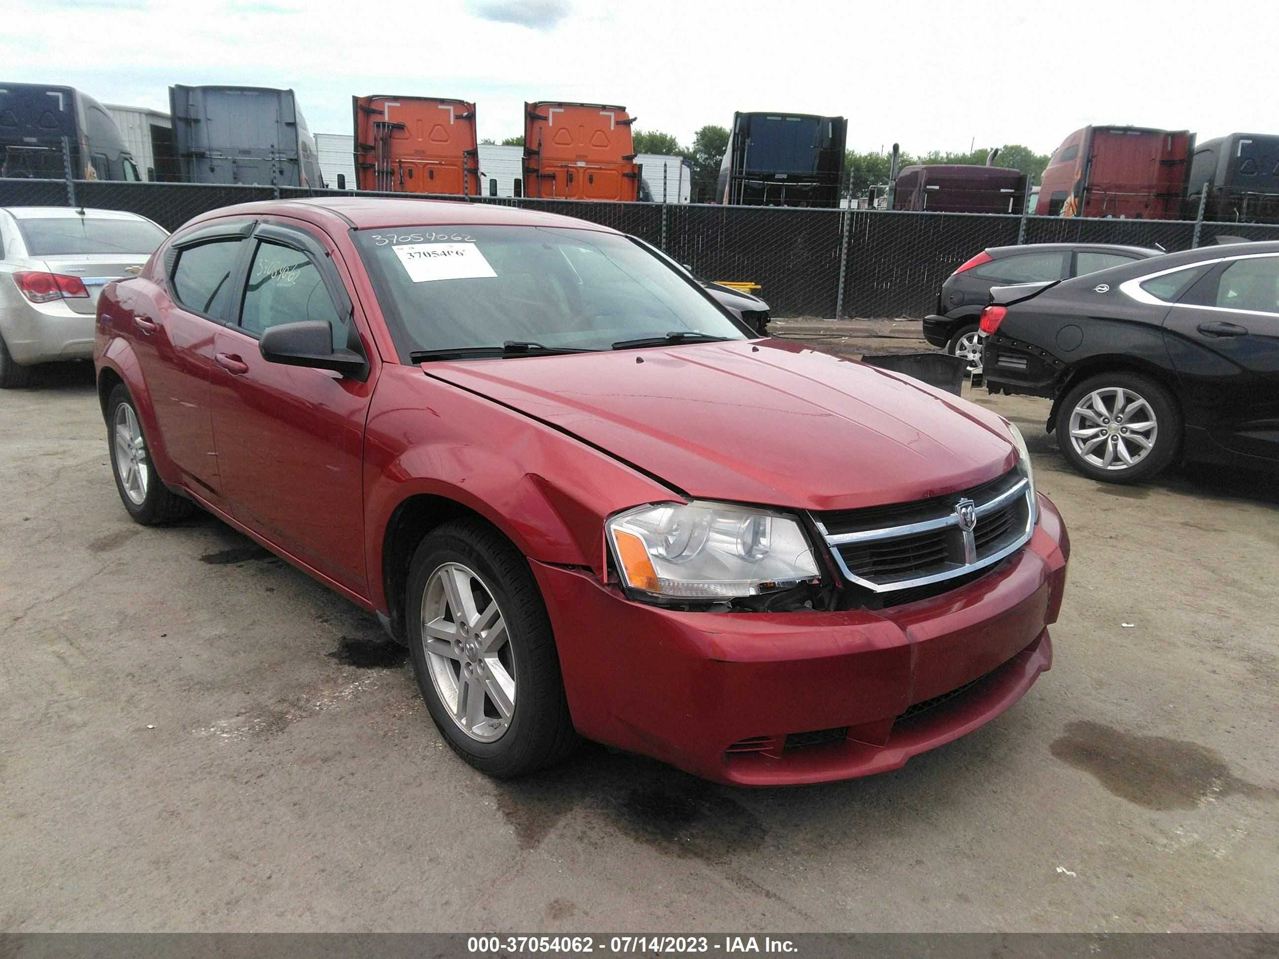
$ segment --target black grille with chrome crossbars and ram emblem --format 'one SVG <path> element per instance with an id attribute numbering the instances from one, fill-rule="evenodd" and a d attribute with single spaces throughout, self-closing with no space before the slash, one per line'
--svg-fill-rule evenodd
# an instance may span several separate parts
<path id="1" fill-rule="evenodd" d="M 813 522 L 849 582 L 889 592 L 967 575 L 1022 547 L 1035 528 L 1032 496 L 1012 469 L 948 496 L 817 513 Z"/>

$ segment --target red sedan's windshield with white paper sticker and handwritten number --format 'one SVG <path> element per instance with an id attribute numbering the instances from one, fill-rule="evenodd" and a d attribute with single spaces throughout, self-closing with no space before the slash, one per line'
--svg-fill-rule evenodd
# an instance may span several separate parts
<path id="1" fill-rule="evenodd" d="M 633 240 L 558 226 L 358 230 L 403 362 L 416 350 L 610 349 L 646 336 L 747 339 L 689 280 Z"/>

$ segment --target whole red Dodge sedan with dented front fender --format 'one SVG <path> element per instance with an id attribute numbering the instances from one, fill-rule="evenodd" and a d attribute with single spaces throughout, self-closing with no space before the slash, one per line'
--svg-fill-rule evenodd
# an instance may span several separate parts
<path id="1" fill-rule="evenodd" d="M 106 288 L 95 361 L 129 514 L 198 505 L 376 612 L 496 776 L 578 737 L 725 783 L 879 772 L 1051 664 L 1069 541 L 1012 423 L 757 339 L 614 230 L 217 210 Z"/>

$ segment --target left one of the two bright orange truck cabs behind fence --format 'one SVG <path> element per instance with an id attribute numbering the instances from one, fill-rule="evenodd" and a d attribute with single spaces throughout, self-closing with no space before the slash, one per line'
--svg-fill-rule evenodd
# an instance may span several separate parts
<path id="1" fill-rule="evenodd" d="M 476 105 L 435 97 L 352 97 L 356 183 L 398 193 L 480 192 Z"/>

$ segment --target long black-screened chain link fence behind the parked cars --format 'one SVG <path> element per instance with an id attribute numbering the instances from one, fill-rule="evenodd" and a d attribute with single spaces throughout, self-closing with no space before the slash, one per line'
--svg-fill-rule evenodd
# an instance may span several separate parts
<path id="1" fill-rule="evenodd" d="M 1279 225 L 1123 220 L 1008 214 L 813 210 L 700 203 L 432 197 L 299 187 L 114 180 L 0 179 L 3 206 L 128 210 L 169 230 L 210 210 L 257 199 L 306 197 L 449 199 L 541 210 L 640 237 L 698 276 L 756 284 L 774 316 L 912 317 L 936 308 L 957 266 L 1019 243 L 1122 243 L 1173 252 L 1219 238 L 1279 240 Z"/>

